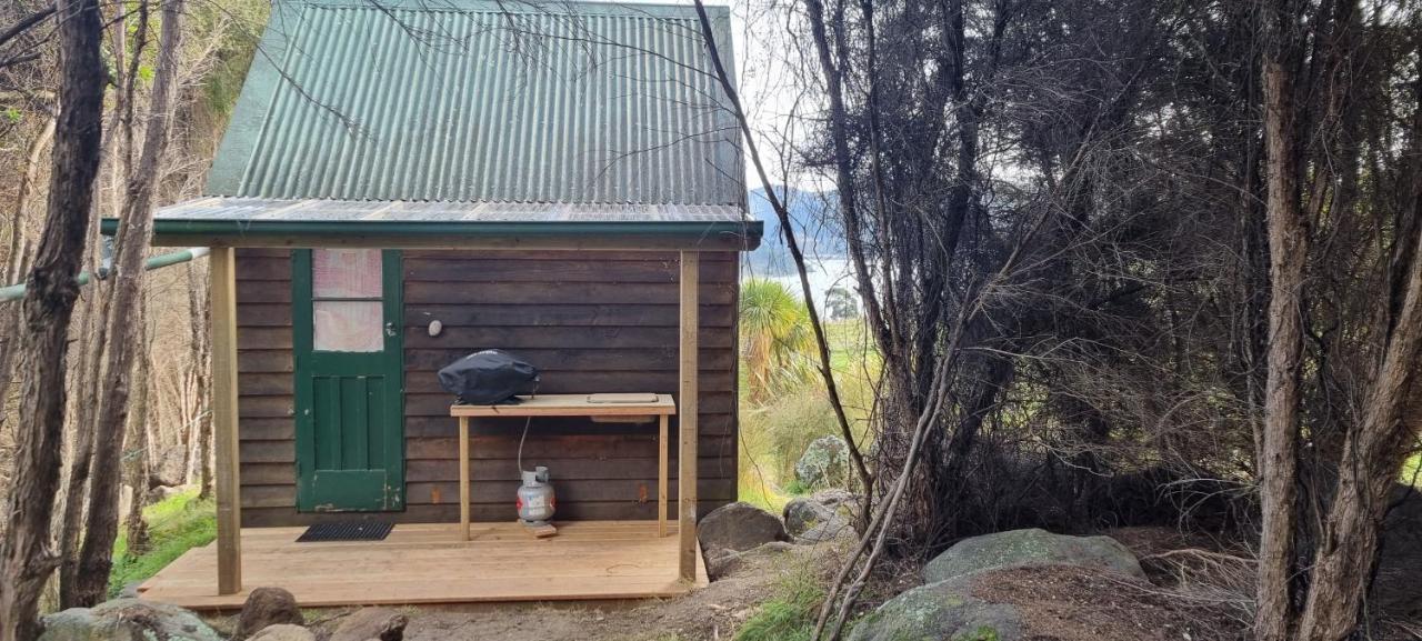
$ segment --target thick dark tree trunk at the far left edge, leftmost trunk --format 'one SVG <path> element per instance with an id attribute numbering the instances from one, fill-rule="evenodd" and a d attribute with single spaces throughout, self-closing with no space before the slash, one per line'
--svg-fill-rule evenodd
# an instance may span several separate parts
<path id="1" fill-rule="evenodd" d="M 48 213 L 21 303 L 20 367 L 24 371 L 17 459 L 6 500 L 9 529 L 0 543 L 0 641 L 38 637 L 38 598 L 58 559 L 50 550 L 50 517 L 60 485 L 68 327 L 75 277 L 88 233 L 98 175 L 104 112 L 102 23 L 98 0 L 61 0 L 60 119 Z"/>

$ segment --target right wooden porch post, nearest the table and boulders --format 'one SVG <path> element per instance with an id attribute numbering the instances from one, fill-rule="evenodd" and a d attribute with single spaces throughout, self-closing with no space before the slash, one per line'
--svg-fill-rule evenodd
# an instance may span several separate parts
<path id="1" fill-rule="evenodd" d="M 681 580 L 697 580 L 697 294 L 700 254 L 681 252 L 681 394 L 677 424 L 681 448 L 677 462 L 677 536 Z"/>

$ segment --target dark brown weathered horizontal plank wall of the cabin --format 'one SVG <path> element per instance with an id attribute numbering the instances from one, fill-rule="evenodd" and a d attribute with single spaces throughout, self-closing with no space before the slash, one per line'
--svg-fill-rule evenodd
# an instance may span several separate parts
<path id="1" fill-rule="evenodd" d="M 405 522 L 456 522 L 458 442 L 435 371 L 502 348 L 543 370 L 547 394 L 677 391 L 677 257 L 607 252 L 405 252 Z M 734 253 L 701 260 L 700 512 L 735 499 Z M 290 252 L 237 253 L 243 524 L 299 524 Z M 444 331 L 428 334 L 439 320 Z M 475 426 L 474 517 L 513 517 L 523 421 Z M 675 422 L 673 422 L 675 431 Z M 673 432 L 674 433 L 674 432 Z M 671 449 L 675 497 L 675 439 Z M 567 519 L 651 519 L 656 425 L 535 419 L 525 468 L 547 465 Z"/>

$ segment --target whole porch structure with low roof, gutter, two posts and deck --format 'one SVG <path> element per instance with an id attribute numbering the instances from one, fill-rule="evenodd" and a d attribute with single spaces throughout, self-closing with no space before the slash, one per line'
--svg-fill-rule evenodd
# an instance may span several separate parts
<path id="1" fill-rule="evenodd" d="M 559 213 L 539 217 L 449 203 L 373 208 L 331 200 L 228 198 L 159 212 L 155 244 L 212 247 L 218 537 L 144 583 L 139 596 L 189 608 L 223 610 L 240 607 L 250 590 L 267 586 L 290 590 L 303 607 L 654 598 L 704 586 L 695 524 L 700 256 L 754 247 L 759 223 L 748 223 L 735 208 L 668 210 L 650 219 L 646 212 Z M 675 252 L 678 421 L 667 439 L 677 460 L 673 479 L 677 499 L 665 533 L 658 533 L 657 520 L 574 520 L 557 522 L 559 532 L 552 539 L 535 539 L 512 522 L 512 499 L 509 522 L 474 523 L 469 540 L 462 540 L 458 523 L 402 523 L 381 542 L 341 543 L 296 543 L 303 527 L 242 527 L 239 247 Z M 665 496 L 665 489 L 661 495 Z"/>

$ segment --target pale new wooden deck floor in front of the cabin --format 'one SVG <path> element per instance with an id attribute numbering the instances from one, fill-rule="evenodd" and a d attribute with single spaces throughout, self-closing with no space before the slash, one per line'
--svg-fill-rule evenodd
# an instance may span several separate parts
<path id="1" fill-rule="evenodd" d="M 656 522 L 559 523 L 533 539 L 516 523 L 400 524 L 383 542 L 296 543 L 304 527 L 242 530 L 246 590 L 279 586 L 303 607 L 675 597 L 678 537 Z M 707 584 L 697 554 L 697 587 Z M 189 550 L 139 586 L 139 596 L 195 610 L 239 608 L 218 596 L 216 544 Z"/>

